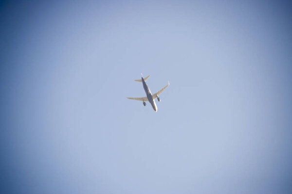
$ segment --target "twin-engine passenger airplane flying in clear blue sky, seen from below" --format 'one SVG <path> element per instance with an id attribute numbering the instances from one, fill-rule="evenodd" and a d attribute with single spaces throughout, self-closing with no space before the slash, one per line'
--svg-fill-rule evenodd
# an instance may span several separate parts
<path id="1" fill-rule="evenodd" d="M 127 97 L 128 99 L 131 99 L 131 100 L 141 100 L 143 101 L 143 105 L 146 106 L 146 101 L 149 101 L 149 103 L 151 104 L 153 110 L 155 112 L 157 112 L 157 106 L 156 106 L 156 103 L 155 103 L 155 98 L 157 98 L 157 100 L 160 102 L 160 98 L 159 98 L 159 95 L 169 86 L 169 81 L 168 81 L 168 84 L 162 88 L 160 91 L 158 91 L 157 93 L 155 94 L 152 94 L 150 89 L 148 88 L 148 85 L 146 83 L 146 80 L 150 77 L 150 76 L 147 76 L 145 79 L 143 78 L 143 75 L 141 73 L 141 80 L 135 80 L 135 81 L 139 81 L 139 82 L 142 82 L 143 83 L 143 87 L 144 87 L 144 90 L 146 92 L 146 97 Z"/>

